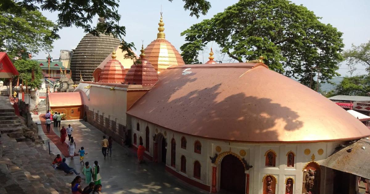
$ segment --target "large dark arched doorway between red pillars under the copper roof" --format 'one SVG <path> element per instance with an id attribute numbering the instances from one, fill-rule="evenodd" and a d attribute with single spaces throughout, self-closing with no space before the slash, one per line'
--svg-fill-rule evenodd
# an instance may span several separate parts
<path id="1" fill-rule="evenodd" d="M 220 189 L 245 194 L 245 169 L 239 158 L 229 154 L 221 161 Z"/>

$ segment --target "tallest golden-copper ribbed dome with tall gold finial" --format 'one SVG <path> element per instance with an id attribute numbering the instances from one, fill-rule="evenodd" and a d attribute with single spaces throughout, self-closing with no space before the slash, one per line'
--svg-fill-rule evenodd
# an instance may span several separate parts
<path id="1" fill-rule="evenodd" d="M 158 73 L 167 69 L 169 66 L 185 65 L 180 53 L 165 39 L 162 15 L 159 21 L 157 39 L 145 48 L 145 58 L 153 65 Z"/>

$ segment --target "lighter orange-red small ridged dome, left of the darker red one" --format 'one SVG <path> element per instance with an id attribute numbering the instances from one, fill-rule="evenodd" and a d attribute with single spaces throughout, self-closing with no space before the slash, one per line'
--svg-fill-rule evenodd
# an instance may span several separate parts
<path id="1" fill-rule="evenodd" d="M 121 83 L 125 81 L 126 70 L 123 65 L 115 59 L 115 51 L 112 52 L 112 59 L 104 65 L 99 82 L 101 83 Z"/>

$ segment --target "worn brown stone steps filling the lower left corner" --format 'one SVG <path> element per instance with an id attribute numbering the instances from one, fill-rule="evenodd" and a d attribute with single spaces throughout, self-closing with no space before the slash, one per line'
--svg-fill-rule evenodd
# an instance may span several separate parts
<path id="1" fill-rule="evenodd" d="M 55 156 L 49 155 L 43 146 L 31 141 L 17 142 L 8 136 L 1 141 L 0 181 L 4 184 L 0 193 L 70 193 L 74 176 L 55 170 L 51 166 Z"/>

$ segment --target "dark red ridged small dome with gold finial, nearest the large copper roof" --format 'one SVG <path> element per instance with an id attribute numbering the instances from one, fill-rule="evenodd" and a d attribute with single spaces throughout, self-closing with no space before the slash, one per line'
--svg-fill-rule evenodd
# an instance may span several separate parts
<path id="1" fill-rule="evenodd" d="M 152 64 L 145 59 L 144 46 L 141 46 L 140 62 L 135 62 L 128 70 L 125 84 L 134 84 L 145 86 L 154 86 L 158 82 L 158 73 Z"/>

